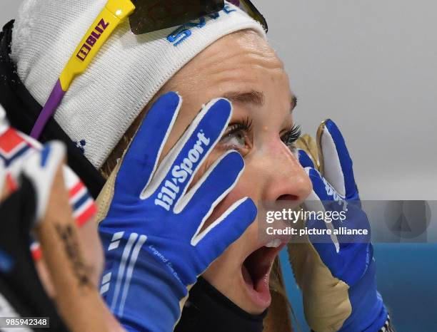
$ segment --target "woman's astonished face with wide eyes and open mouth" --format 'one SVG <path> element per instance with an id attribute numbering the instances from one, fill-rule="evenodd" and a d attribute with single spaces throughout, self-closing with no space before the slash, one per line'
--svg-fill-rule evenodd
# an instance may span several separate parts
<path id="1" fill-rule="evenodd" d="M 225 152 L 241 153 L 246 167 L 236 187 L 214 209 L 214 221 L 242 197 L 263 201 L 302 202 L 311 182 L 293 155 L 293 117 L 296 98 L 291 93 L 283 63 L 260 36 L 233 33 L 206 48 L 167 83 L 184 103 L 164 154 L 179 139 L 201 105 L 218 97 L 233 103 L 233 115 L 221 142 L 196 174 L 194 183 Z M 273 260 L 287 239 L 265 247 L 254 222 L 214 261 L 204 278 L 249 313 L 261 313 L 271 302 L 268 276 Z"/>

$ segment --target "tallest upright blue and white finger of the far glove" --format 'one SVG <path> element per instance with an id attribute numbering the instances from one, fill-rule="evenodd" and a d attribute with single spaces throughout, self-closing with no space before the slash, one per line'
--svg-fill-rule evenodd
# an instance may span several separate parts
<path id="1" fill-rule="evenodd" d="M 343 135 L 333 120 L 325 120 L 318 128 L 318 142 L 321 145 L 323 177 L 338 194 L 348 199 L 357 199 L 352 160 Z"/>

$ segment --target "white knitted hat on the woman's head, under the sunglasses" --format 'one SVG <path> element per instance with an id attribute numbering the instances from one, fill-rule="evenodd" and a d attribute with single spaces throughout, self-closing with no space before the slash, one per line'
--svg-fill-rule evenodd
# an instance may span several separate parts
<path id="1" fill-rule="evenodd" d="M 11 58 L 41 104 L 106 0 L 26 0 L 12 33 Z M 129 21 L 116 28 L 54 118 L 99 168 L 158 90 L 191 58 L 234 31 L 263 28 L 232 4 L 179 28 L 136 36 Z"/>

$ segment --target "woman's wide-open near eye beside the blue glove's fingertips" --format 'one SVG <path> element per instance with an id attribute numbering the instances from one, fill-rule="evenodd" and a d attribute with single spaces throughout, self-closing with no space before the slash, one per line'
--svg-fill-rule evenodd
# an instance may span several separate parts
<path id="1" fill-rule="evenodd" d="M 220 146 L 225 150 L 237 150 L 241 155 L 246 155 L 251 147 L 249 138 L 252 121 L 247 118 L 244 121 L 231 123 L 220 141 Z"/>

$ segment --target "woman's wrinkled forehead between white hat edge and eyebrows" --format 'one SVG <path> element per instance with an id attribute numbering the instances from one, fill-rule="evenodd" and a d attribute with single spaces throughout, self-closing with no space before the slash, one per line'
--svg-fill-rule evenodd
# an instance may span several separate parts
<path id="1" fill-rule="evenodd" d="M 229 91 L 259 90 L 271 99 L 290 105 L 293 95 L 288 76 L 271 46 L 254 31 L 225 36 L 199 53 L 167 84 L 184 99 L 223 96 Z"/>

